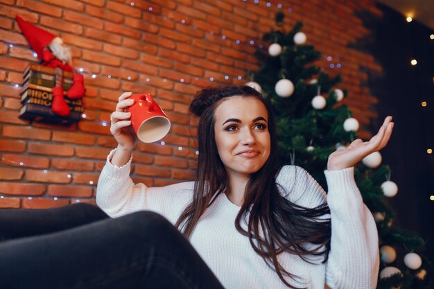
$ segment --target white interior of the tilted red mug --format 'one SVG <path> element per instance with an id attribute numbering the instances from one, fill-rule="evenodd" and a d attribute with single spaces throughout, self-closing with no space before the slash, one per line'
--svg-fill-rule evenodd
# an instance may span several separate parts
<path id="1" fill-rule="evenodd" d="M 164 116 L 153 116 L 146 119 L 137 130 L 137 138 L 144 143 L 153 143 L 168 134 L 171 121 Z"/>

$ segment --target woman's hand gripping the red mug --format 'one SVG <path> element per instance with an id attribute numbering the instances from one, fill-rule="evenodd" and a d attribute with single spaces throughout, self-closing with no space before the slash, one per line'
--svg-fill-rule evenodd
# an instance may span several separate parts
<path id="1" fill-rule="evenodd" d="M 132 152 L 137 146 L 137 137 L 131 128 L 131 113 L 127 112 L 128 107 L 134 104 L 129 99 L 131 92 L 125 92 L 119 96 L 116 110 L 110 115 L 110 132 L 118 142 L 118 149 Z"/>

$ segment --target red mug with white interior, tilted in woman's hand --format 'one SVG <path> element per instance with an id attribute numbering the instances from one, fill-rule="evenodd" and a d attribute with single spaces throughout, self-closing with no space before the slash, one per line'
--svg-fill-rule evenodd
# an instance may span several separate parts
<path id="1" fill-rule="evenodd" d="M 166 136 L 171 129 L 171 121 L 150 94 L 130 96 L 134 104 L 128 107 L 131 125 L 137 138 L 144 143 L 153 143 Z"/>

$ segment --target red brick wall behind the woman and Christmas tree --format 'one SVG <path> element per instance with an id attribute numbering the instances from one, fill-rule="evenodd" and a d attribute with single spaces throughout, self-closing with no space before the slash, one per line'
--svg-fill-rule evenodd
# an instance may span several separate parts
<path id="1" fill-rule="evenodd" d="M 345 102 L 356 118 L 363 125 L 375 119 L 376 98 L 361 85 L 367 76 L 360 67 L 381 68 L 371 55 L 348 46 L 369 35 L 354 12 L 379 14 L 374 1 L 270 1 L 270 8 L 259 2 L 134 0 L 131 6 L 131 0 L 0 0 L 0 207 L 94 202 L 98 174 L 116 146 L 102 123 L 123 91 L 150 92 L 173 123 L 165 145 L 139 144 L 134 182 L 162 186 L 191 179 L 196 167 L 195 121 L 187 114 L 191 96 L 207 85 L 245 82 L 245 72 L 257 67 L 254 49 L 273 26 L 278 3 L 293 9 L 286 12 L 288 29 L 303 21 L 309 44 L 342 64 L 327 72 L 342 74 L 341 88 L 349 91 Z M 36 59 L 15 15 L 60 35 L 72 48 L 74 67 L 87 72 L 87 117 L 77 125 L 18 119 L 21 88 L 15 84 Z M 325 57 L 320 62 L 328 64 Z"/>

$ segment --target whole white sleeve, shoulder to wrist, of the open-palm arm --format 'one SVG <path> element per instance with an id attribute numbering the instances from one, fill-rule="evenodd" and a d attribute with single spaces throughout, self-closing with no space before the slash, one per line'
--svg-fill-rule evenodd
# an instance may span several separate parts
<path id="1" fill-rule="evenodd" d="M 284 166 L 277 183 L 288 200 L 317 207 L 327 200 L 331 218 L 331 249 L 325 283 L 333 289 L 375 288 L 379 272 L 379 243 L 372 213 L 354 181 L 354 168 L 326 170 L 329 192 L 297 166 Z"/>

